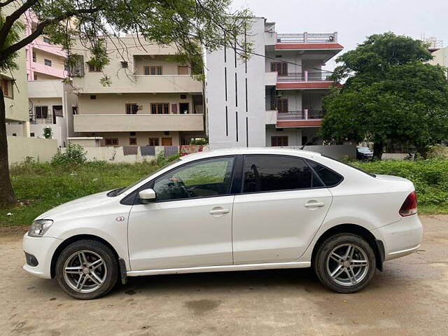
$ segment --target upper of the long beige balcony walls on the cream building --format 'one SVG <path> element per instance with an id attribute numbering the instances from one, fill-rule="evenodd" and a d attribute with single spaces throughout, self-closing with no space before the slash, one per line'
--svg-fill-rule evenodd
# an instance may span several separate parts
<path id="1" fill-rule="evenodd" d="M 73 78 L 79 93 L 200 93 L 202 82 L 190 75 L 126 76 L 113 78 L 110 86 L 100 83 L 103 74 L 87 72 L 83 77 Z"/>

